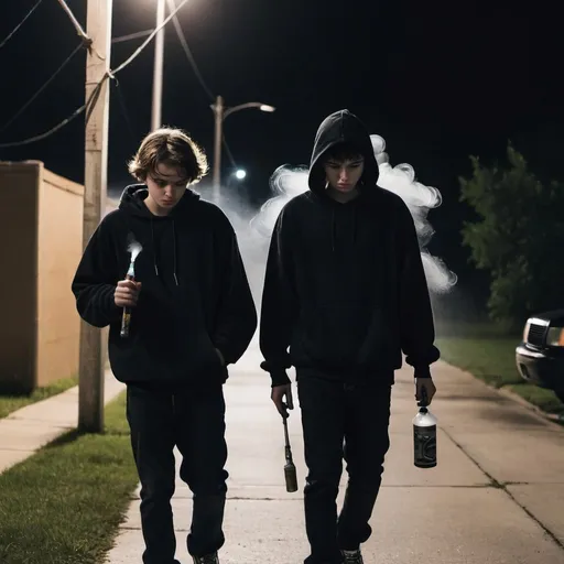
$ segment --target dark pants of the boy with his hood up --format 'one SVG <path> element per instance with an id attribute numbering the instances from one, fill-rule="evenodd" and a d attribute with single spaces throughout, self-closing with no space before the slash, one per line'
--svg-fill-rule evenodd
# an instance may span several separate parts
<path id="1" fill-rule="evenodd" d="M 306 564 L 340 563 L 341 550 L 357 550 L 371 534 L 368 524 L 390 446 L 391 384 L 344 384 L 300 377 L 305 463 Z M 348 485 L 337 519 L 336 498 L 347 463 Z"/>

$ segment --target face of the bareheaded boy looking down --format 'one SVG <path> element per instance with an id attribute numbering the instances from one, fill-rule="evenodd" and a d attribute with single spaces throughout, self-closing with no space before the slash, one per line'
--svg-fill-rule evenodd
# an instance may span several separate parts
<path id="1" fill-rule="evenodd" d="M 145 183 L 149 188 L 147 207 L 155 216 L 166 216 L 184 196 L 188 181 L 183 169 L 160 163 L 147 175 Z"/>

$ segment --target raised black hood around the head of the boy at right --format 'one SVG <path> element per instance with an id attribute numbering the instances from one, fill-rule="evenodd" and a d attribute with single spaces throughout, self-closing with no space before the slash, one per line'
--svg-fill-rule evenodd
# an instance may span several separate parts
<path id="1" fill-rule="evenodd" d="M 323 155 L 339 143 L 355 147 L 365 158 L 365 171 L 360 177 L 358 188 L 361 191 L 362 186 L 373 186 L 378 182 L 378 162 L 376 161 L 370 134 L 357 116 L 344 109 L 327 116 L 317 129 L 310 163 L 308 185 L 312 192 L 318 194 L 325 191 Z"/>

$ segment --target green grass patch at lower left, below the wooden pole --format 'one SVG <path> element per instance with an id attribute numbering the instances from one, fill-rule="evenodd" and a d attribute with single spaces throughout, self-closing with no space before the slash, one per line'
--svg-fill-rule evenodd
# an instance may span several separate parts
<path id="1" fill-rule="evenodd" d="M 100 564 L 137 482 L 122 393 L 105 434 L 73 432 L 0 475 L 0 562 Z"/>

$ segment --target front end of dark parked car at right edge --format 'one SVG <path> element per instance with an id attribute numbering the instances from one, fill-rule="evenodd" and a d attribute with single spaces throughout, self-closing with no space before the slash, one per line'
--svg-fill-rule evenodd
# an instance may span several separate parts
<path id="1" fill-rule="evenodd" d="M 527 319 L 516 361 L 524 380 L 553 390 L 564 402 L 564 310 Z"/>

